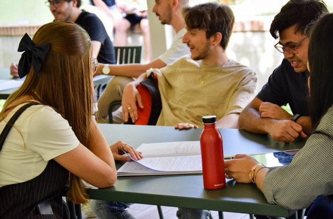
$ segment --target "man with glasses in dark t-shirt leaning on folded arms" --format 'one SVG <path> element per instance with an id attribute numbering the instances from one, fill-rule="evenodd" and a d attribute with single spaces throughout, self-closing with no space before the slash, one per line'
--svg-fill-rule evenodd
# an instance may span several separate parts
<path id="1" fill-rule="evenodd" d="M 239 127 L 255 133 L 268 133 L 276 141 L 293 142 L 311 131 L 309 90 L 307 87 L 309 32 L 323 14 L 321 0 L 291 0 L 272 21 L 270 33 L 274 47 L 285 59 L 262 90 L 243 110 Z M 293 115 L 280 106 L 289 103 Z"/>

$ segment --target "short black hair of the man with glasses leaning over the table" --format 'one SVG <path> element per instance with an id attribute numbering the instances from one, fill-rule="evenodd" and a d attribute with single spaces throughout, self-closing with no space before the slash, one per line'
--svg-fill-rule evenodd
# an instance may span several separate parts
<path id="1" fill-rule="evenodd" d="M 274 17 L 269 32 L 277 39 L 281 32 L 296 24 L 296 33 L 308 36 L 307 26 L 327 13 L 326 4 L 321 0 L 290 0 Z"/>

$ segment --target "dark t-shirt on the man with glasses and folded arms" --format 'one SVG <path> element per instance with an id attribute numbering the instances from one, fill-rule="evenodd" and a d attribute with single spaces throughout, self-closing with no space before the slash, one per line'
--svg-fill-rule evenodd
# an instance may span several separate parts
<path id="1" fill-rule="evenodd" d="M 308 76 L 308 71 L 295 72 L 288 60 L 284 59 L 269 76 L 257 97 L 263 102 L 280 106 L 289 103 L 294 115 L 309 116 Z"/>

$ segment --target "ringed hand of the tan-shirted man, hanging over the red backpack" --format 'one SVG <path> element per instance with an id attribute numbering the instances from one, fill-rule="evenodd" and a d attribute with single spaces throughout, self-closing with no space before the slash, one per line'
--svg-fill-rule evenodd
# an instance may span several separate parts
<path id="1" fill-rule="evenodd" d="M 124 122 L 129 120 L 129 115 L 131 116 L 133 123 L 138 119 L 137 102 L 140 108 L 143 108 L 141 95 L 136 88 L 136 84 L 127 84 L 124 88 L 121 100 L 122 118 L 124 119 Z"/>

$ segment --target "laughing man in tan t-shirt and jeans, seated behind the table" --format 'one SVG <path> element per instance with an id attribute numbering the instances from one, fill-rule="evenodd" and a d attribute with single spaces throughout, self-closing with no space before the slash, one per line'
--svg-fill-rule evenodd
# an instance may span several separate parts
<path id="1" fill-rule="evenodd" d="M 157 75 L 162 99 L 157 125 L 186 122 L 202 126 L 201 116 L 215 114 L 219 127 L 237 128 L 239 113 L 254 97 L 257 74 L 229 59 L 225 52 L 235 22 L 233 11 L 227 5 L 207 3 L 184 8 L 183 16 L 187 29 L 183 43 L 189 47 L 190 56 L 147 71 Z M 137 103 L 144 106 L 136 87 L 146 77 L 143 73 L 124 88 L 124 121 L 138 119 Z M 134 218 L 126 210 L 129 203 L 92 200 L 91 206 L 98 218 Z M 210 211 L 179 208 L 176 215 L 209 218 Z"/>

